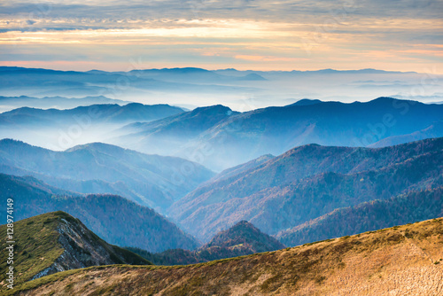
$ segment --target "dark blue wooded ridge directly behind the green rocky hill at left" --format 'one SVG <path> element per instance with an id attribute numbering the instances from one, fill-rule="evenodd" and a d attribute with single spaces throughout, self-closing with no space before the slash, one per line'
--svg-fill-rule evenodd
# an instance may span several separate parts
<path id="1" fill-rule="evenodd" d="M 198 241 L 149 207 L 115 195 L 80 195 L 61 191 L 35 178 L 0 174 L 0 196 L 14 199 L 14 219 L 65 211 L 113 245 L 142 247 L 150 252 L 183 248 Z M 6 221 L 6 211 L 0 212 Z"/>

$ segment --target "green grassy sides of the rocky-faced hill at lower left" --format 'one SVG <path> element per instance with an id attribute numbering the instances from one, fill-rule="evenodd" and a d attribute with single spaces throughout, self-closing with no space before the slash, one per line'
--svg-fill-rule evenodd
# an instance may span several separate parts
<path id="1" fill-rule="evenodd" d="M 58 257 L 65 252 L 65 249 L 58 242 L 60 236 L 57 231 L 61 219 L 77 224 L 79 220 L 64 212 L 58 211 L 48 214 L 41 214 L 32 218 L 20 220 L 14 223 L 14 274 L 15 284 L 21 284 L 34 277 L 38 272 L 49 268 Z M 97 245 L 103 246 L 106 252 L 111 253 L 114 262 L 140 261 L 150 264 L 135 253 L 128 252 L 116 245 L 109 245 L 103 239 L 98 238 L 93 232 L 89 235 Z M 1 238 L 6 237 L 6 225 L 0 226 Z M 5 250 L 5 240 L 0 243 L 2 250 Z M 0 253 L 0 283 L 4 281 L 7 252 Z M 121 258 L 121 259 L 120 259 Z M 2 284 L 3 285 L 3 284 Z M 0 287 L 0 290 L 2 288 Z M 1 294 L 1 292 L 0 292 Z"/>

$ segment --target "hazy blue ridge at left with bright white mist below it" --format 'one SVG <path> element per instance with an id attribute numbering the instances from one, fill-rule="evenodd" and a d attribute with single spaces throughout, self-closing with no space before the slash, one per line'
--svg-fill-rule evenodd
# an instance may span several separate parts
<path id="1" fill-rule="evenodd" d="M 1 104 L 0 101 L 0 107 Z M 116 136 L 115 129 L 129 123 L 159 120 L 178 113 L 183 113 L 183 109 L 138 103 L 87 105 L 67 110 L 22 107 L 0 113 L 0 138 L 61 151 L 76 144 L 103 142 Z"/>

